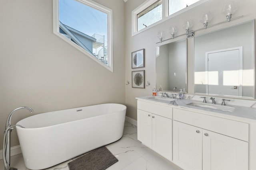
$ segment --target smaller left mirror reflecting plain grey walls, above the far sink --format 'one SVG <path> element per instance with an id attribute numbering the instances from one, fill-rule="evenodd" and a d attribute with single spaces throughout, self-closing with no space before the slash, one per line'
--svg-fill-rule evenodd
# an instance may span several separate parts
<path id="1" fill-rule="evenodd" d="M 187 92 L 187 40 L 176 41 L 157 48 L 156 90 Z"/>

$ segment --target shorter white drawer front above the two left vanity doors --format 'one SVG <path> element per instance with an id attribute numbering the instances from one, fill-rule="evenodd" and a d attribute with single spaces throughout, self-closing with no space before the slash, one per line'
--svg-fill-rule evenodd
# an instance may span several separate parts
<path id="1" fill-rule="evenodd" d="M 160 115 L 160 116 L 172 119 L 172 107 L 162 106 L 162 105 L 143 102 L 138 100 L 137 108 L 140 110 L 148 111 L 150 113 L 154 113 L 156 115 Z"/>

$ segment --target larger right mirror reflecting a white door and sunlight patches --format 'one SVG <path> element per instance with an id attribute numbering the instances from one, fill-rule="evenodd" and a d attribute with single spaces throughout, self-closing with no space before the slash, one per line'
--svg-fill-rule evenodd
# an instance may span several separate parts
<path id="1" fill-rule="evenodd" d="M 254 20 L 194 37 L 196 94 L 254 98 Z"/>

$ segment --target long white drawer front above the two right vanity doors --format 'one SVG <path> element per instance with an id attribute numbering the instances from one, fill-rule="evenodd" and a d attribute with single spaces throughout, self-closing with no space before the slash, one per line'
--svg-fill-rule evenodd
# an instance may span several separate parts
<path id="1" fill-rule="evenodd" d="M 249 140 L 249 124 L 173 108 L 173 119 L 243 141 Z"/>

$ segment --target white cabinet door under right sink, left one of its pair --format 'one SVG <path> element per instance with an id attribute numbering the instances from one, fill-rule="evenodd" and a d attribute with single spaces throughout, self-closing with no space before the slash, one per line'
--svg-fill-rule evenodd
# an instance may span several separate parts
<path id="1" fill-rule="evenodd" d="M 202 170 L 202 129 L 173 121 L 173 162 L 185 170 Z"/>

